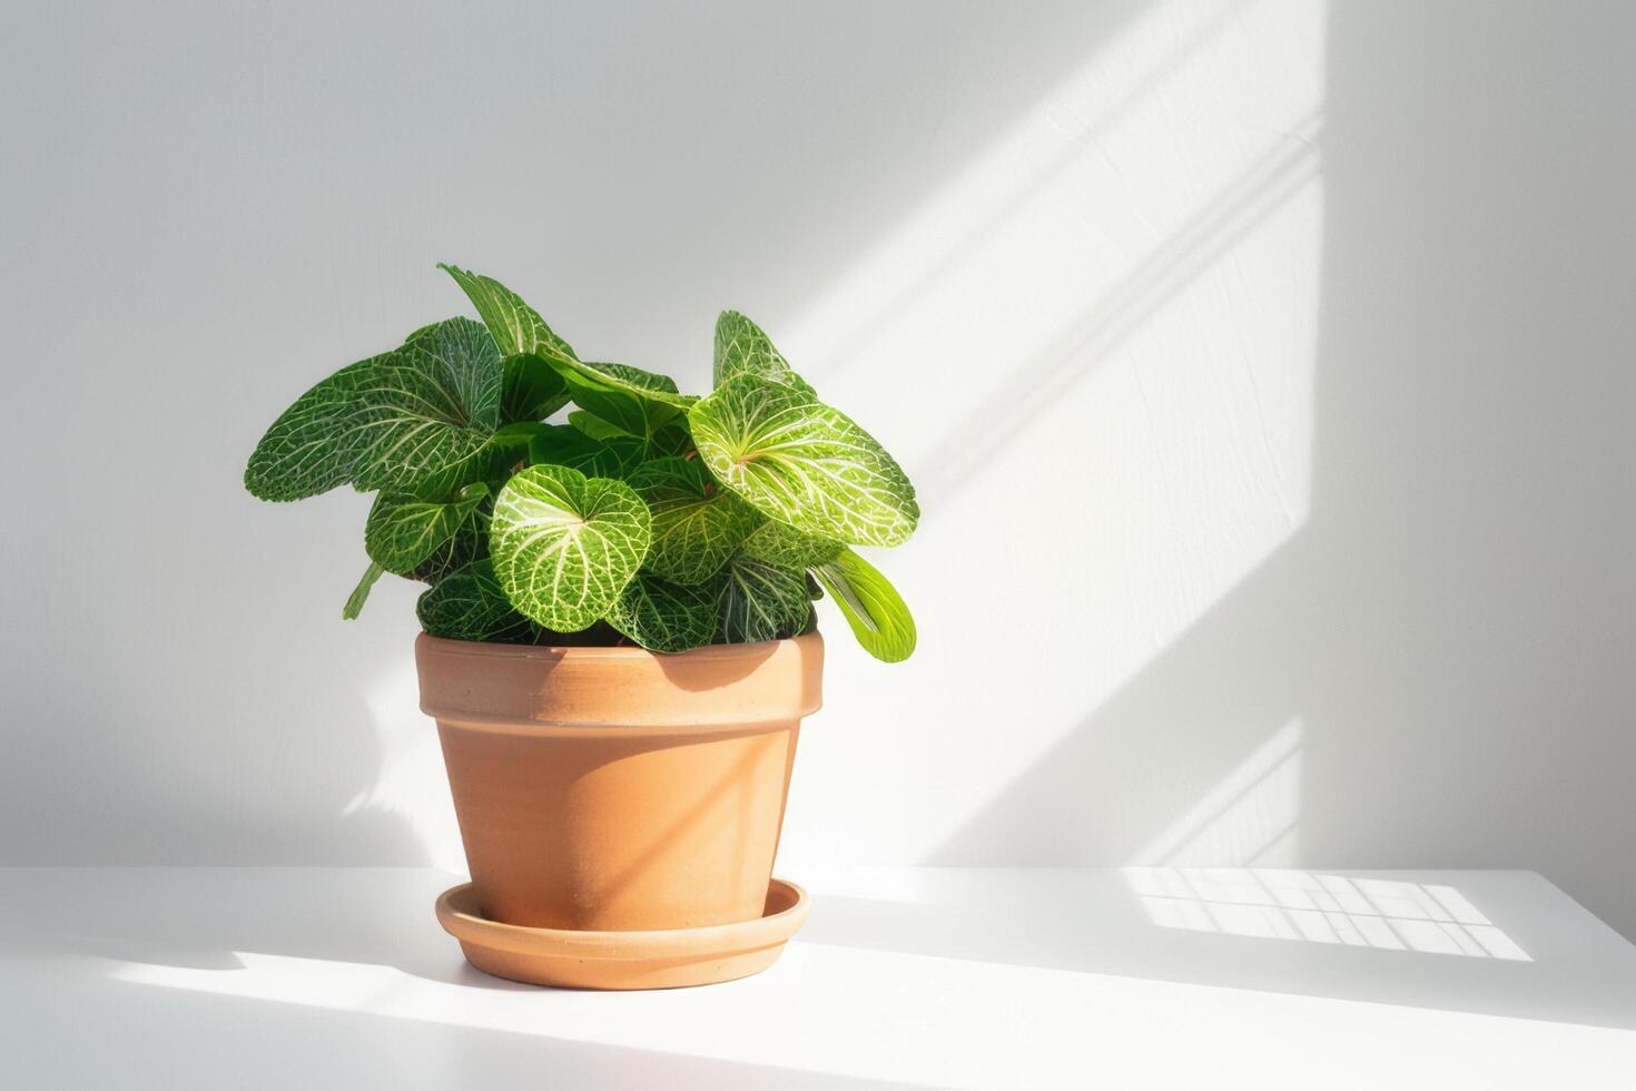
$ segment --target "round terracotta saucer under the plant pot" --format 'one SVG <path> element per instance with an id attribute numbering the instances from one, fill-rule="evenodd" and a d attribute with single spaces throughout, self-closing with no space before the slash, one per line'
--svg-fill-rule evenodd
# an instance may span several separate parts
<path id="1" fill-rule="evenodd" d="M 445 890 L 437 923 L 466 962 L 494 977 L 558 988 L 677 988 L 761 973 L 807 923 L 807 891 L 774 878 L 754 921 L 659 932 L 574 932 L 489 921 L 471 883 Z"/>

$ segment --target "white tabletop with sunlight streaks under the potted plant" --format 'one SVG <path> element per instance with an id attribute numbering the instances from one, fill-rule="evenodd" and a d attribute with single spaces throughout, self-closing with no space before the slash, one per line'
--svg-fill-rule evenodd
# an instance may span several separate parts
<path id="1" fill-rule="evenodd" d="M 573 993 L 434 870 L 0 870 L 0 1086 L 1636 1086 L 1636 947 L 1530 872 L 790 878 L 767 973 Z"/>

